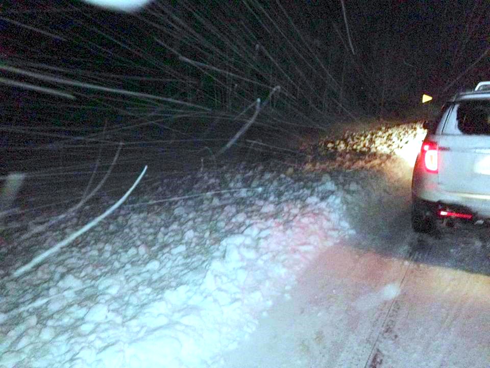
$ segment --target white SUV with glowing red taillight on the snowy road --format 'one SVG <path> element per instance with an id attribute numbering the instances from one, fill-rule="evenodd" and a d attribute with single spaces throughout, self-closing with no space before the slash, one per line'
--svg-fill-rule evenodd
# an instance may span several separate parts
<path id="1" fill-rule="evenodd" d="M 459 93 L 428 130 L 412 176 L 412 227 L 490 223 L 490 82 Z"/>

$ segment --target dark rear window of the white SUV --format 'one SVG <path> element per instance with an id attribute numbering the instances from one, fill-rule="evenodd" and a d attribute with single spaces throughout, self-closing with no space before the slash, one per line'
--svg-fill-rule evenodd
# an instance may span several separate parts
<path id="1" fill-rule="evenodd" d="M 463 134 L 490 135 L 490 101 L 460 101 L 456 119 Z"/>

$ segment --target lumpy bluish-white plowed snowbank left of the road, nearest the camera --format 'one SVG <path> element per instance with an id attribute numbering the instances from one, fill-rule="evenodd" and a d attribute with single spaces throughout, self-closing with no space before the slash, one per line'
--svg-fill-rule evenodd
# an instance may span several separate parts
<path id="1" fill-rule="evenodd" d="M 142 203 L 5 282 L 0 366 L 216 366 L 318 252 L 351 232 L 328 174 L 306 182 L 241 166 L 191 179 L 199 195 L 169 201 L 172 183 L 146 188 Z M 12 243 L 28 250 L 14 267 L 77 223 Z"/>

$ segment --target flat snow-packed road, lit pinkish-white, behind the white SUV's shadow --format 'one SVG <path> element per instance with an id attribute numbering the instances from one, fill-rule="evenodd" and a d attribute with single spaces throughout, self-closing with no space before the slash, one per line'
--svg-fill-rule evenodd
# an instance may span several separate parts
<path id="1" fill-rule="evenodd" d="M 275 305 L 231 367 L 487 367 L 490 278 L 325 251 Z M 247 362 L 247 363 L 244 363 Z"/>

